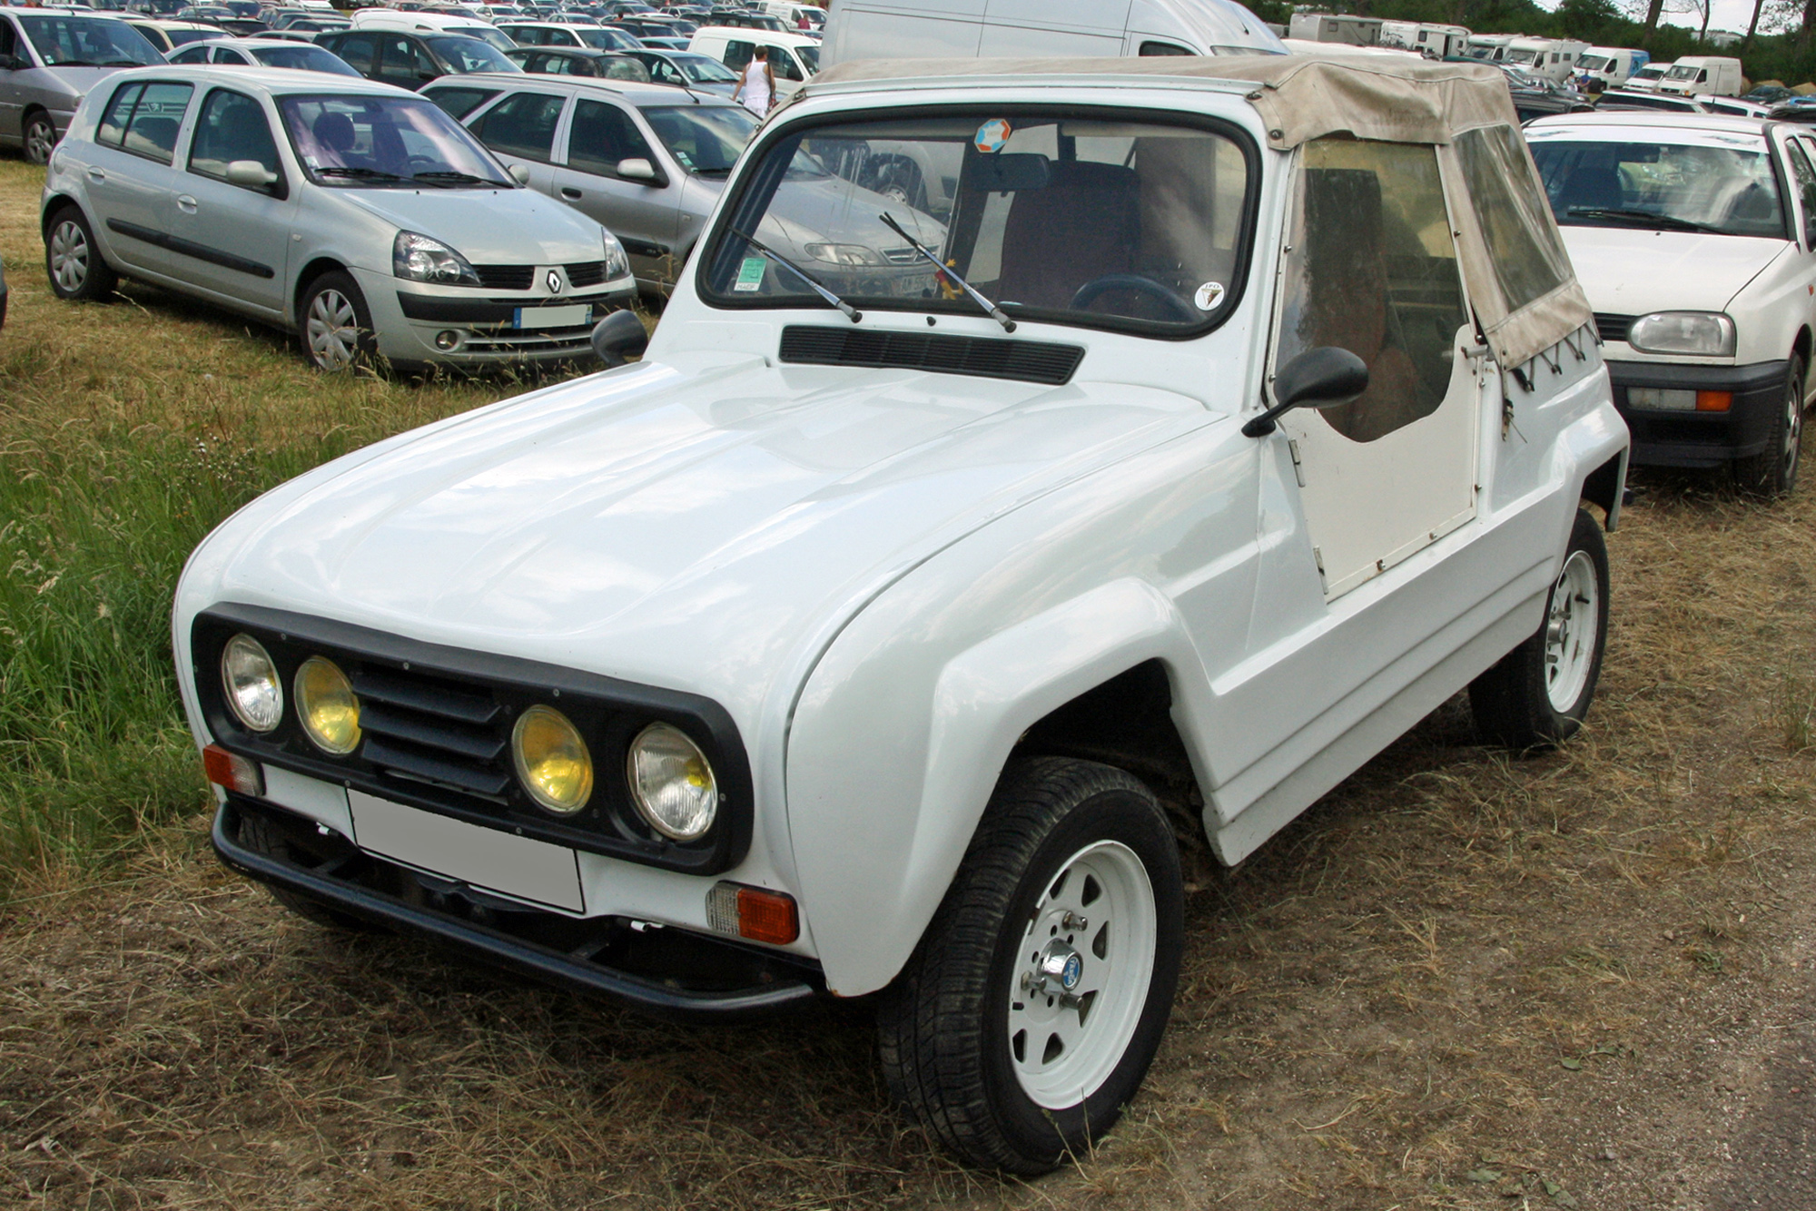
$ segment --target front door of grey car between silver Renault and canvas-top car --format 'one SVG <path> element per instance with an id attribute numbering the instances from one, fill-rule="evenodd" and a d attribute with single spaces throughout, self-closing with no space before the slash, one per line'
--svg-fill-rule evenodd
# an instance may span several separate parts
<path id="1" fill-rule="evenodd" d="M 617 236 L 643 281 L 674 281 L 676 231 L 685 172 L 666 163 L 632 105 L 579 96 L 568 122 L 565 163 L 554 167 L 556 196 Z M 621 176 L 625 160 L 646 160 L 656 180 Z"/>

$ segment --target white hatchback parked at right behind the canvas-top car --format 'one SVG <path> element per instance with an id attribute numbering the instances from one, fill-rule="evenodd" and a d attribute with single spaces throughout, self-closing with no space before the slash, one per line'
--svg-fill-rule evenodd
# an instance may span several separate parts
<path id="1" fill-rule="evenodd" d="M 1656 113 L 1525 129 L 1607 341 L 1633 461 L 1796 483 L 1812 399 L 1816 138 Z"/>

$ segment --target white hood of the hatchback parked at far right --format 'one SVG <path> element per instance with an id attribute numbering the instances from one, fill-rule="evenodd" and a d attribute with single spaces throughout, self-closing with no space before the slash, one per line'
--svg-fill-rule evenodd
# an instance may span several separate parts
<path id="1" fill-rule="evenodd" d="M 1560 227 L 1589 307 L 1616 316 L 1722 310 L 1785 240 L 1640 227 Z"/>

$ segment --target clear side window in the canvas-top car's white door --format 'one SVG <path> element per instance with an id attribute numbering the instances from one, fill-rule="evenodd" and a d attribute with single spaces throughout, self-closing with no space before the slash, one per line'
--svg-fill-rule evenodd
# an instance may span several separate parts
<path id="1" fill-rule="evenodd" d="M 1436 149 L 1326 138 L 1300 163 L 1275 370 L 1320 345 L 1362 358 L 1367 390 L 1320 416 L 1375 441 L 1438 410 L 1467 323 Z"/>

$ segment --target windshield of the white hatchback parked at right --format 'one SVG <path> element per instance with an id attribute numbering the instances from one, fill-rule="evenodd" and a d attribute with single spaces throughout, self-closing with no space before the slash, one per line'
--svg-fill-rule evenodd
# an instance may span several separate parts
<path id="1" fill-rule="evenodd" d="M 1738 143 L 1738 140 L 1736 140 Z M 1533 160 L 1564 227 L 1785 238 L 1765 147 L 1545 140 Z"/>

